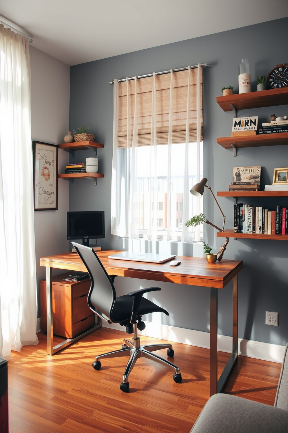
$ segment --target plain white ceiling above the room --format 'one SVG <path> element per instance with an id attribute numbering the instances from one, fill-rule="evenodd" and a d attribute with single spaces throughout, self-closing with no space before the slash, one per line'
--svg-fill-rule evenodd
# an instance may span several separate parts
<path id="1" fill-rule="evenodd" d="M 76 65 L 283 18 L 288 1 L 1 0 L 0 14 L 33 46 Z"/>

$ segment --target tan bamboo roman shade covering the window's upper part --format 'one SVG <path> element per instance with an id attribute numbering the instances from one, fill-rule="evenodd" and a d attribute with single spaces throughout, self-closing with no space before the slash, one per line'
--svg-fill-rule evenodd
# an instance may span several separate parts
<path id="1" fill-rule="evenodd" d="M 187 124 L 187 87 L 189 69 L 174 72 L 172 143 L 185 143 Z M 189 142 L 196 142 L 197 118 L 197 68 L 190 70 Z M 156 131 L 157 144 L 168 144 L 170 74 L 156 75 Z M 131 147 L 133 139 L 134 113 L 137 111 L 138 146 L 151 143 L 153 77 L 137 80 L 137 110 L 135 110 L 135 80 L 119 83 L 118 147 Z M 128 88 L 128 104 L 127 104 Z M 201 141 L 203 140 L 203 68 L 200 74 L 201 93 Z M 128 116 L 127 116 L 128 113 Z M 127 123 L 128 117 L 128 123 Z M 128 131 L 128 134 L 127 134 Z M 127 143 L 127 135 L 130 138 Z"/>

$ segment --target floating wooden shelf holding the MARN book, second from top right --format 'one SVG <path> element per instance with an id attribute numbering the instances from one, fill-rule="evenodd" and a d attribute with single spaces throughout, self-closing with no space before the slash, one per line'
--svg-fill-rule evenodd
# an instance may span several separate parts
<path id="1" fill-rule="evenodd" d="M 258 134 L 254 136 L 218 137 L 217 143 L 225 149 L 231 149 L 231 144 L 234 147 L 278 146 L 288 144 L 288 132 Z"/>

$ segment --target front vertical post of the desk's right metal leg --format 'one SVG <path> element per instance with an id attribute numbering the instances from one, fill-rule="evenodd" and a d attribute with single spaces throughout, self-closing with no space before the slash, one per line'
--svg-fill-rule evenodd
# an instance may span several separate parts
<path id="1" fill-rule="evenodd" d="M 210 287 L 210 397 L 217 393 L 218 289 Z"/>

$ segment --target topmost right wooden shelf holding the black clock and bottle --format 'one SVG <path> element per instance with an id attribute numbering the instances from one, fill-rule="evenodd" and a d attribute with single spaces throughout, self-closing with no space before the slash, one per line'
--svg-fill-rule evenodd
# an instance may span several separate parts
<path id="1" fill-rule="evenodd" d="M 284 89 L 270 89 L 260 92 L 218 96 L 216 101 L 223 111 L 232 111 L 231 104 L 235 107 L 235 110 L 284 105 L 288 103 L 288 87 Z"/>

